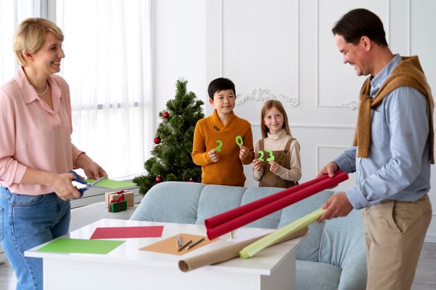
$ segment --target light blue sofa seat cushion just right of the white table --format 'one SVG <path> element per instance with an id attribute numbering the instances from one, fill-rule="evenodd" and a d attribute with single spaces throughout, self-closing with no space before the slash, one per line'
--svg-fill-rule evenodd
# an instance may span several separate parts
<path id="1" fill-rule="evenodd" d="M 341 268 L 314 261 L 296 261 L 295 289 L 338 290 Z M 310 273 L 310 275 L 308 275 Z"/>

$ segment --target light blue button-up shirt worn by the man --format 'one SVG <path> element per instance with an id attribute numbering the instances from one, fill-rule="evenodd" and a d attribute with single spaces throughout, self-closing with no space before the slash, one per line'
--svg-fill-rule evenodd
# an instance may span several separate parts
<path id="1" fill-rule="evenodd" d="M 371 97 L 400 63 L 396 54 L 371 79 Z M 356 186 L 346 191 L 355 209 L 382 200 L 415 201 L 430 190 L 430 139 L 426 96 L 399 87 L 371 108 L 371 147 L 368 158 L 357 157 L 350 147 L 334 159 L 345 172 L 356 172 Z"/>

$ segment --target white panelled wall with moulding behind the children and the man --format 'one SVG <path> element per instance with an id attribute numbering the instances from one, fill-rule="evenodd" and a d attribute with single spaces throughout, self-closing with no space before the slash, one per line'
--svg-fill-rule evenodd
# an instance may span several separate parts
<path id="1" fill-rule="evenodd" d="M 155 1 L 156 112 L 173 98 L 180 76 L 206 102 L 208 83 L 226 76 L 236 84 L 235 113 L 260 138 L 260 106 L 283 103 L 302 147 L 302 182 L 352 141 L 358 92 L 364 77 L 343 65 L 331 29 L 353 8 L 380 16 L 394 53 L 419 55 L 436 88 L 436 1 L 432 0 L 159 0 Z M 157 118 L 157 121 L 159 119 Z M 246 186 L 257 186 L 251 166 Z M 430 199 L 436 204 L 433 167 Z M 354 184 L 354 176 L 338 189 Z M 436 205 L 435 205 L 436 207 Z M 436 211 L 435 211 L 436 212 Z M 426 241 L 436 242 L 436 215 Z"/>

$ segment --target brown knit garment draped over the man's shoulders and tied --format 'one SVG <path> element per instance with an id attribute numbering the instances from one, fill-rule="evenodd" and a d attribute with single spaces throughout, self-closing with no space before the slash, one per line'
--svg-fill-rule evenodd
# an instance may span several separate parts
<path id="1" fill-rule="evenodd" d="M 397 65 L 391 76 L 384 81 L 382 87 L 372 99 L 369 97 L 371 81 L 368 78 L 364 82 L 360 90 L 359 113 L 357 115 L 355 138 L 353 140 L 353 145 L 358 147 L 357 157 L 368 158 L 371 145 L 371 108 L 382 104 L 384 97 L 401 86 L 415 88 L 427 97 L 428 124 L 430 129 L 430 163 L 434 164 L 433 97 L 417 56 L 403 57 L 403 61 Z"/>

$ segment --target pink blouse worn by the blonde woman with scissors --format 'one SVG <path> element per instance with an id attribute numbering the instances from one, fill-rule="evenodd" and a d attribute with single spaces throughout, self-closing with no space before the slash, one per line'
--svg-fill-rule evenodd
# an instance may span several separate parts
<path id="1" fill-rule="evenodd" d="M 71 143 L 68 83 L 56 75 L 48 81 L 53 110 L 36 95 L 22 67 L 0 87 L 0 184 L 12 193 L 52 193 L 51 186 L 20 184 L 26 168 L 66 173 L 82 153 Z"/>

